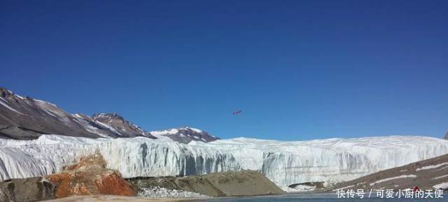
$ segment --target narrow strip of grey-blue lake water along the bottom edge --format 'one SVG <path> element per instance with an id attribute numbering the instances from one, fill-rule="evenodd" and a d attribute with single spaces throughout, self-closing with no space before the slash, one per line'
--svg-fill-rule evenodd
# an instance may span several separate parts
<path id="1" fill-rule="evenodd" d="M 363 198 L 363 199 L 337 199 L 336 194 L 285 194 L 278 196 L 255 196 L 255 197 L 225 197 L 225 198 L 215 198 L 215 199 L 207 199 L 203 201 L 207 202 L 270 202 L 270 201 L 279 201 L 279 202 L 308 202 L 308 201 L 318 201 L 318 202 L 342 202 L 342 201 L 363 201 L 363 202 L 377 202 L 377 201 L 388 201 L 388 202 L 398 202 L 398 201 L 433 201 L 433 202 L 448 202 L 448 195 L 444 194 L 444 198 L 439 199 L 403 199 L 403 198 L 394 198 L 394 199 L 381 199 L 381 198 Z"/>

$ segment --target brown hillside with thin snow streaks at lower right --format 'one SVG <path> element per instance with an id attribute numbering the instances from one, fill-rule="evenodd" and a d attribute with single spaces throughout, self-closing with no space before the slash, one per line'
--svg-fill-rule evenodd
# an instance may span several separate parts
<path id="1" fill-rule="evenodd" d="M 448 189 L 448 154 L 342 182 L 332 189 Z"/>

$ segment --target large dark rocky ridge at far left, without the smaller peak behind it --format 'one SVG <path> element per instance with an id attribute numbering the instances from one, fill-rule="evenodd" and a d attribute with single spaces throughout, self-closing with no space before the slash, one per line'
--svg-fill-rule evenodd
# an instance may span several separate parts
<path id="1" fill-rule="evenodd" d="M 0 88 L 1 138 L 34 139 L 41 134 L 98 138 L 99 132 L 109 134 L 106 130 L 94 129 L 98 131 L 87 131 L 80 120 L 52 103 Z"/>

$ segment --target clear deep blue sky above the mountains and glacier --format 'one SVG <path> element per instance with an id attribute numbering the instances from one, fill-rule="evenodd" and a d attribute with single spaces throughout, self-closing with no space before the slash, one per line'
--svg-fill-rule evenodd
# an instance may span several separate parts
<path id="1" fill-rule="evenodd" d="M 448 1 L 2 0 L 0 26 L 0 85 L 69 113 L 222 138 L 448 131 Z"/>

